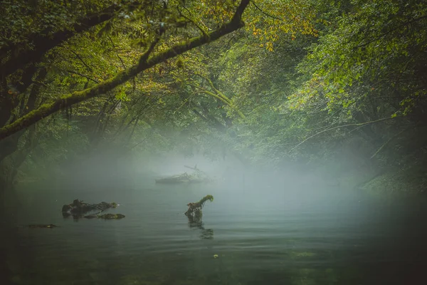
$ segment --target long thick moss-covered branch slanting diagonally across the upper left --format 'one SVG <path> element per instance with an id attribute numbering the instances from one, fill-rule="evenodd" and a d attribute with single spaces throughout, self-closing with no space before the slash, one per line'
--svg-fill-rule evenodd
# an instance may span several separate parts
<path id="1" fill-rule="evenodd" d="M 241 17 L 246 9 L 246 6 L 248 6 L 249 1 L 250 0 L 241 0 L 241 3 L 236 9 L 236 13 L 234 14 L 231 21 L 226 24 L 223 24 L 220 28 L 209 33 L 209 37 L 198 36 L 195 38 L 191 38 L 187 41 L 178 43 L 165 51 L 161 51 L 152 56 L 151 58 L 144 58 L 144 56 L 146 55 L 146 53 L 144 53 L 144 55 L 139 58 L 137 65 L 131 66 L 130 68 L 125 69 L 124 71 L 120 71 L 119 73 L 117 73 L 116 76 L 113 76 L 112 78 L 109 78 L 106 81 L 96 84 L 95 86 L 92 86 L 85 90 L 75 91 L 68 95 L 63 95 L 52 103 L 46 103 L 44 105 L 41 105 L 36 110 L 33 110 L 27 115 L 24 115 L 23 117 L 19 118 L 14 123 L 0 128 L 0 140 L 8 137 L 9 135 L 19 132 L 19 130 L 25 129 L 28 126 L 33 125 L 34 123 L 37 123 L 39 120 L 46 118 L 48 115 L 56 113 L 58 110 L 68 108 L 71 105 L 105 94 L 107 91 L 110 91 L 113 88 L 120 86 L 121 84 L 125 83 L 131 78 L 134 78 L 135 76 L 137 76 L 137 74 L 147 70 L 148 68 L 152 68 L 153 66 L 167 61 L 170 58 L 174 58 L 175 56 L 178 56 L 181 53 L 202 46 L 205 43 L 216 41 L 218 38 L 221 38 L 222 36 L 225 36 L 228 33 L 236 31 L 238 28 L 244 26 Z"/>

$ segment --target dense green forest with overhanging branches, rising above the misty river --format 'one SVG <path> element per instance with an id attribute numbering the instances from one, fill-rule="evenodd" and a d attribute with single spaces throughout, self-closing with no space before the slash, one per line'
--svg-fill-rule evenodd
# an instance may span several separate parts
<path id="1" fill-rule="evenodd" d="M 0 7 L 2 193 L 89 157 L 130 172 L 117 160 L 169 152 L 426 189 L 424 1 Z"/>

